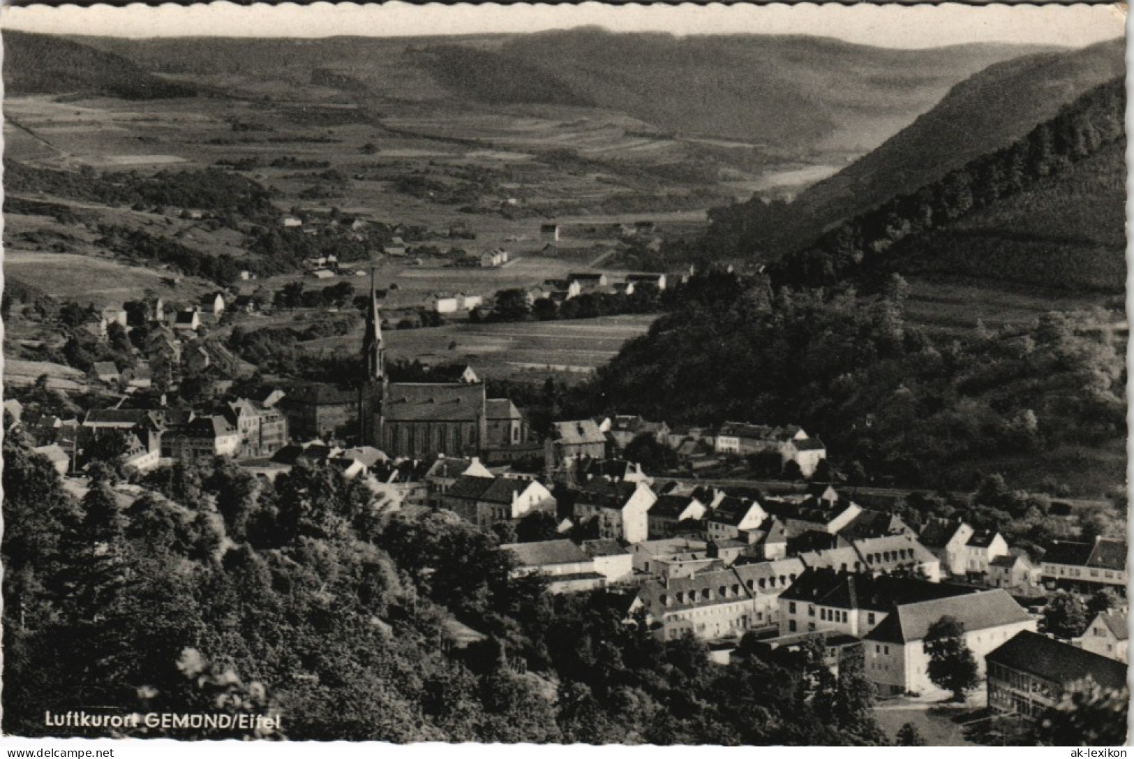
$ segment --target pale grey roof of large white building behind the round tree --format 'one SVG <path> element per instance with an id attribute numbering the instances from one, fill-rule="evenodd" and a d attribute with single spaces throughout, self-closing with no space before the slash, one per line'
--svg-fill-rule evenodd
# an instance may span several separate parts
<path id="1" fill-rule="evenodd" d="M 984 590 L 951 598 L 939 598 L 898 606 L 865 640 L 883 643 L 911 643 L 925 639 L 930 626 L 941 617 L 954 617 L 966 632 L 1000 627 L 1031 619 L 1027 612 L 1006 590 Z"/>

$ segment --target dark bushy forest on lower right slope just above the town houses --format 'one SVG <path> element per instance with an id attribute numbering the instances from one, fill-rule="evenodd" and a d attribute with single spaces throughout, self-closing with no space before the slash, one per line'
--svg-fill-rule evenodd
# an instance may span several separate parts
<path id="1" fill-rule="evenodd" d="M 1115 314 L 1052 312 L 958 340 L 907 322 L 897 275 L 875 297 L 773 293 L 730 275 L 701 289 L 600 369 L 584 407 L 802 424 L 841 459 L 909 487 L 968 487 L 983 459 L 1125 437 Z"/>

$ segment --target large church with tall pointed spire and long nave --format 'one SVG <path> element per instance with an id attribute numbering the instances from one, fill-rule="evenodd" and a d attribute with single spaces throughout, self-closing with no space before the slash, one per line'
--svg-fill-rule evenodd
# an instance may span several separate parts
<path id="1" fill-rule="evenodd" d="M 371 282 L 358 388 L 359 445 L 393 458 L 481 456 L 500 458 L 523 449 L 523 415 L 507 398 L 488 398 L 475 376 L 452 382 L 390 382 L 378 295 Z M 471 374 L 471 372 L 468 373 Z"/>

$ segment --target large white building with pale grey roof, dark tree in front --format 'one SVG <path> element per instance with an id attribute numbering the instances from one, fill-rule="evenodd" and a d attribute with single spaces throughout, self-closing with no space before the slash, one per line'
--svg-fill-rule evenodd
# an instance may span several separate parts
<path id="1" fill-rule="evenodd" d="M 929 678 L 923 642 L 942 617 L 953 617 L 964 626 L 965 644 L 982 675 L 990 651 L 1019 632 L 1034 632 L 1036 624 L 1000 589 L 898 605 L 863 638 L 864 674 L 879 693 L 941 692 Z"/>

